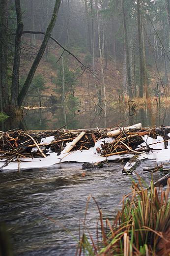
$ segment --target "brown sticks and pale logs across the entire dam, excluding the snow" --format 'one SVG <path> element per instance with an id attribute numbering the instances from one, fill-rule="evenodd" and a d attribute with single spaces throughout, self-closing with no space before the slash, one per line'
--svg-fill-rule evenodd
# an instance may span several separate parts
<path id="1" fill-rule="evenodd" d="M 167 140 L 170 138 L 167 134 L 170 128 L 141 128 L 141 124 L 131 127 L 116 128 L 116 129 L 84 129 L 84 130 L 44 130 L 44 131 L 24 131 L 24 130 L 10 130 L 0 132 L 0 159 L 5 161 L 19 160 L 21 158 L 39 158 L 47 157 L 49 148 L 57 155 L 67 153 L 75 150 L 88 150 L 94 147 L 94 144 L 99 139 L 106 137 L 113 137 L 112 143 L 101 144 L 101 149 L 97 149 L 97 153 L 101 156 L 108 157 L 112 155 L 121 155 L 126 153 L 141 154 L 142 152 L 149 152 L 153 150 L 147 144 L 140 150 L 136 150 L 138 145 L 143 142 L 142 136 L 147 135 L 156 138 L 161 135 L 165 140 L 165 147 Z M 40 143 L 42 138 L 54 136 L 50 143 Z M 104 140 L 103 140 L 104 141 Z M 66 147 L 68 142 L 71 145 Z M 37 150 L 32 152 L 32 148 Z"/>

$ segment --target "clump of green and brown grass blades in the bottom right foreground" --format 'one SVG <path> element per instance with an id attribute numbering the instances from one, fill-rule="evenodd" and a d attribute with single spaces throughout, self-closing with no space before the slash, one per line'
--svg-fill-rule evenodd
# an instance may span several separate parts
<path id="1" fill-rule="evenodd" d="M 154 187 L 153 182 L 150 189 L 143 188 L 141 178 L 139 185 L 133 181 L 132 193 L 124 196 L 122 209 L 118 211 L 113 224 L 106 220 L 104 227 L 100 209 L 99 213 L 102 239 L 99 239 L 98 228 L 97 241 L 90 234 L 90 239 L 87 239 L 84 233 L 76 255 L 169 255 L 170 243 L 165 236 L 170 228 L 170 179 L 166 190 L 162 186 Z"/>

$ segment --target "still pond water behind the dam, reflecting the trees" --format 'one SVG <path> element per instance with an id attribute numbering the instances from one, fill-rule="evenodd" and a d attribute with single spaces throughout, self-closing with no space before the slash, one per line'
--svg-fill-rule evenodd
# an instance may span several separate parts
<path id="1" fill-rule="evenodd" d="M 129 104 L 127 109 L 117 106 L 107 109 L 107 128 L 126 119 L 128 121 L 123 125 L 142 123 L 143 127 L 170 126 L 170 107 L 138 107 L 133 103 Z M 13 128 L 55 130 L 65 125 L 65 120 L 67 120 L 68 129 L 105 128 L 104 110 L 94 106 L 89 107 L 86 103 L 86 107 L 83 110 L 71 111 L 66 108 L 66 115 L 65 113 L 63 114 L 62 107 L 25 109 L 22 120 L 8 118 L 4 123 L 0 123 L 0 130 L 5 131 Z"/>

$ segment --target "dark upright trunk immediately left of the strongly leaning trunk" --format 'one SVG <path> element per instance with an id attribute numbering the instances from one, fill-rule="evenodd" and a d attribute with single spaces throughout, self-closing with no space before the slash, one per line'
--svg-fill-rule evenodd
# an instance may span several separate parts
<path id="1" fill-rule="evenodd" d="M 20 0 L 15 0 L 15 8 L 17 14 L 17 31 L 15 35 L 15 53 L 12 72 L 11 84 L 11 106 L 14 109 L 18 108 L 18 93 L 19 93 L 19 68 L 20 68 L 20 53 L 21 53 L 21 36 L 23 32 L 22 12 Z"/>

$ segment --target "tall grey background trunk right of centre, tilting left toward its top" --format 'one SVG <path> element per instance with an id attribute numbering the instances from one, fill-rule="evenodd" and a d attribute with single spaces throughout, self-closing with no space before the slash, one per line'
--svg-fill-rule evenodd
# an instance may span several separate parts
<path id="1" fill-rule="evenodd" d="M 124 41 L 125 41 L 125 52 L 126 52 L 126 72 L 127 72 L 127 89 L 129 98 L 133 98 L 132 84 L 131 84 L 131 73 L 130 73 L 130 60 L 129 60 L 129 49 L 128 49 L 128 38 L 126 29 L 126 18 L 124 11 L 124 0 L 121 1 L 122 5 L 122 18 L 123 18 L 123 29 L 124 29 Z"/>

